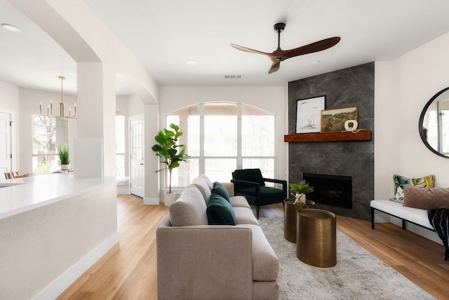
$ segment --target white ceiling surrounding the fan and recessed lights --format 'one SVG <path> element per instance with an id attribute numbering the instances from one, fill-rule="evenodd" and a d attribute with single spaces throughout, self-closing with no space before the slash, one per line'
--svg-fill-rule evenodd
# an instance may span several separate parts
<path id="1" fill-rule="evenodd" d="M 394 60 L 449 32 L 447 0 L 85 0 L 161 86 L 285 86 L 357 64 Z M 281 62 L 229 46 L 272 52 L 273 25 L 286 22 L 281 48 L 341 36 L 319 53 Z M 43 30 L 0 0 L 0 81 L 76 93 L 76 63 Z M 95 28 L 93 28 L 95 30 Z M 187 64 L 194 60 L 196 64 Z M 318 61 L 319 64 L 312 64 Z M 241 75 L 241 79 L 225 79 Z M 118 84 L 119 94 L 130 93 Z"/>

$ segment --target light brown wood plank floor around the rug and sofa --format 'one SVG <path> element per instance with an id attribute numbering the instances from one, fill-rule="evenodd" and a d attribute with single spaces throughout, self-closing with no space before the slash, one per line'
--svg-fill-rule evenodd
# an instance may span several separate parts
<path id="1" fill-rule="evenodd" d="M 168 213 L 163 205 L 142 205 L 135 196 L 117 200 L 120 242 L 58 299 L 157 299 L 156 226 Z M 260 217 L 283 217 L 281 204 L 260 209 Z M 449 299 L 449 262 L 444 247 L 403 231 L 337 216 L 337 229 L 436 299 Z"/>

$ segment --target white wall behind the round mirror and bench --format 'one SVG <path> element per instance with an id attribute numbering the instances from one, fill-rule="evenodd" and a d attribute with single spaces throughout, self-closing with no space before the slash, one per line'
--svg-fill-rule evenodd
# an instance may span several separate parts
<path id="1" fill-rule="evenodd" d="M 435 175 L 449 186 L 449 159 L 424 146 L 418 121 L 424 105 L 449 86 L 449 33 L 391 62 L 376 63 L 375 198 L 393 196 L 394 174 Z"/>

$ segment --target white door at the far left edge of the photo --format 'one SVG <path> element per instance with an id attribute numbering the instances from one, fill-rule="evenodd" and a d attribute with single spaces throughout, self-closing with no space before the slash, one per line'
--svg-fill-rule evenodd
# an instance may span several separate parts
<path id="1" fill-rule="evenodd" d="M 13 171 L 11 157 L 11 114 L 0 111 L 0 174 Z"/>

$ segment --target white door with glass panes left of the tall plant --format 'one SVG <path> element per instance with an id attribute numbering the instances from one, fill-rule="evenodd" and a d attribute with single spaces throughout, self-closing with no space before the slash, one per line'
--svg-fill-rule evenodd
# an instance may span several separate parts
<path id="1" fill-rule="evenodd" d="M 142 116 L 130 118 L 130 186 L 131 193 L 145 195 L 144 135 Z"/>

